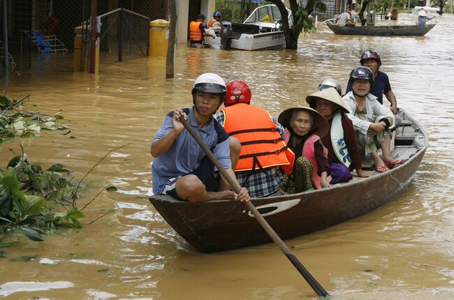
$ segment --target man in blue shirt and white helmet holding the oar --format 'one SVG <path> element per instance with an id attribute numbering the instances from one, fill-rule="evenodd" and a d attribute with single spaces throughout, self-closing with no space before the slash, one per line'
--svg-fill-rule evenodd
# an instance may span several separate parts
<path id="1" fill-rule="evenodd" d="M 150 149 L 153 193 L 171 195 L 180 200 L 200 202 L 217 199 L 249 201 L 246 188 L 236 194 L 223 177 L 214 174 L 214 164 L 206 156 L 180 117 L 188 120 L 214 156 L 236 180 L 231 167 L 229 137 L 213 119 L 225 100 L 226 84 L 219 75 L 205 73 L 194 82 L 193 107 L 170 112 L 153 139 Z"/>

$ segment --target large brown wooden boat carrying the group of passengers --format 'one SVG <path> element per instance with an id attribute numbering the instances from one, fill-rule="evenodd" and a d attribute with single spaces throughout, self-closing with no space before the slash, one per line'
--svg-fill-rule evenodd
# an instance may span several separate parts
<path id="1" fill-rule="evenodd" d="M 347 183 L 305 193 L 251 200 L 281 239 L 330 227 L 361 216 L 407 188 L 423 160 L 427 135 L 404 111 L 395 130 L 393 153 L 404 160 L 390 171 L 354 177 Z M 156 211 L 188 243 L 201 252 L 254 246 L 271 241 L 254 216 L 237 200 L 190 203 L 166 195 L 149 197 Z"/>

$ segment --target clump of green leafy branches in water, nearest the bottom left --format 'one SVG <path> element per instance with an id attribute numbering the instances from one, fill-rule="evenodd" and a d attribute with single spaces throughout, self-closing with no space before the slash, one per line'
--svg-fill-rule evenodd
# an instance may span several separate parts
<path id="1" fill-rule="evenodd" d="M 41 165 L 18 156 L 10 160 L 8 170 L 0 171 L 0 245 L 15 232 L 32 241 L 44 241 L 41 234 L 57 227 L 81 227 L 83 214 L 70 201 L 76 186 L 59 174 L 64 171 L 59 164 L 42 170 Z M 54 213 L 56 205 L 61 207 L 64 202 L 71 208 Z"/>

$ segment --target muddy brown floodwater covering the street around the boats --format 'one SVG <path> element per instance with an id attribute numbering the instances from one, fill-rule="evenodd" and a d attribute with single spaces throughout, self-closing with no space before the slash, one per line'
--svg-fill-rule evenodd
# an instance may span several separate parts
<path id="1" fill-rule="evenodd" d="M 401 14 L 410 24 L 412 15 Z M 205 255 L 194 251 L 147 201 L 151 190 L 149 144 L 163 116 L 191 105 L 193 80 L 203 72 L 251 85 L 252 103 L 275 117 L 305 105 L 324 77 L 346 87 L 366 49 L 380 52 L 399 107 L 430 135 L 415 180 L 395 201 L 366 216 L 288 241 L 295 255 L 332 299 L 449 299 L 454 295 L 454 17 L 437 17 L 423 37 L 335 36 L 328 27 L 302 36 L 298 51 L 198 50 L 179 45 L 175 78 L 165 59 L 108 65 L 101 73 L 72 73 L 72 57 L 36 58 L 31 70 L 1 79 L 10 98 L 27 93 L 27 110 L 61 110 L 71 135 L 0 144 L 0 167 L 20 142 L 44 167 L 63 163 L 85 179 L 80 207 L 103 187 L 84 213 L 82 230 L 51 235 L 43 243 L 21 239 L 0 258 L 0 295 L 15 299 L 298 299 L 314 298 L 286 257 L 272 245 Z M 353 191 L 352 191 L 353 193 Z M 38 255 L 31 262 L 10 259 Z M 71 297 L 72 298 L 72 297 Z"/>

